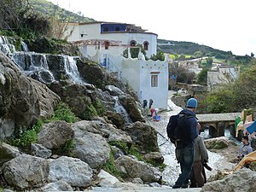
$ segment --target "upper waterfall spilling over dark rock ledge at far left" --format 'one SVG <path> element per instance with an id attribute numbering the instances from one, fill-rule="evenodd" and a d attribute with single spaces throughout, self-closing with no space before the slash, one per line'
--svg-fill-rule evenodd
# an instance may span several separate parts
<path id="1" fill-rule="evenodd" d="M 73 56 L 30 52 L 24 42 L 21 42 L 21 46 L 23 51 L 15 51 L 15 46 L 9 44 L 8 38 L 0 36 L 0 49 L 3 53 L 9 55 L 15 64 L 33 79 L 44 84 L 61 78 L 71 79 L 78 84 L 83 83 Z"/>

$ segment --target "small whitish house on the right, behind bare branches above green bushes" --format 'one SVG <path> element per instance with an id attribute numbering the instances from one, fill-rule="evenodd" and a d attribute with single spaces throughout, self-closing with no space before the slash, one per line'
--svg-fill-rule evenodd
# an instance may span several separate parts
<path id="1" fill-rule="evenodd" d="M 239 67 L 227 65 L 215 65 L 211 71 L 207 72 L 207 89 L 212 91 L 218 87 L 234 82 L 240 73 Z"/>

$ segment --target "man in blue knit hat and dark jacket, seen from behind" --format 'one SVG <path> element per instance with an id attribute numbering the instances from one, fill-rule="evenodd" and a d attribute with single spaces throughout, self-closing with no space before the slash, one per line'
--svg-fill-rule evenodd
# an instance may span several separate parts
<path id="1" fill-rule="evenodd" d="M 189 186 L 189 175 L 194 161 L 195 138 L 198 137 L 198 122 L 195 118 L 197 100 L 190 98 L 186 107 L 180 112 L 185 118 L 177 119 L 177 129 L 183 132 L 183 138 L 176 141 L 175 150 L 177 162 L 180 163 L 181 174 L 172 186 L 172 189 L 186 188 Z"/>

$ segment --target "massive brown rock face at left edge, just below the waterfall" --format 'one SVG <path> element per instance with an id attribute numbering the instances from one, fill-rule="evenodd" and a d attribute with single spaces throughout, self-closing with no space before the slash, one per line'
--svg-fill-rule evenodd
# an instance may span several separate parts
<path id="1" fill-rule="evenodd" d="M 49 117 L 59 100 L 45 84 L 26 77 L 0 52 L 0 138 L 10 137 L 15 128 L 35 124 L 39 117 Z"/>

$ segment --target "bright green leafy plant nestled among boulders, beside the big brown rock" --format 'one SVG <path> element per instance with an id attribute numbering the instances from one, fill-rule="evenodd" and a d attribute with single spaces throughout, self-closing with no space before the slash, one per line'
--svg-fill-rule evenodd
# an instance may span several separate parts
<path id="1" fill-rule="evenodd" d="M 54 120 L 65 120 L 67 123 L 75 123 L 78 121 L 78 118 L 75 116 L 75 114 L 68 108 L 68 105 L 64 102 L 60 102 L 56 108 L 55 113 L 49 119 L 49 121 Z"/>

